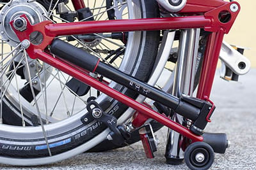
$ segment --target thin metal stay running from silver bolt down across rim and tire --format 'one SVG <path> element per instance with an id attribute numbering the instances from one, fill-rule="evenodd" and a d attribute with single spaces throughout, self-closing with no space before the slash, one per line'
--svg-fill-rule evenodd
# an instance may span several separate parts
<path id="1" fill-rule="evenodd" d="M 36 99 L 35 91 L 34 91 L 34 89 L 33 89 L 32 81 L 31 81 L 31 76 L 30 76 L 30 71 L 29 71 L 29 64 L 28 64 L 28 57 L 27 57 L 27 54 L 26 54 L 26 50 L 24 50 L 24 54 L 25 54 L 25 60 L 26 60 L 26 67 L 27 67 L 27 71 L 28 71 L 30 89 L 31 89 L 33 98 Z M 46 143 L 46 145 L 47 145 L 47 149 L 48 149 L 48 152 L 49 152 L 49 156 L 51 157 L 51 156 L 52 156 L 52 153 L 51 153 L 51 149 L 50 149 L 50 147 L 49 147 L 47 135 L 46 135 L 46 132 L 45 132 L 45 129 L 44 129 L 44 122 L 43 122 L 43 120 L 42 120 L 41 113 L 40 113 L 40 110 L 39 110 L 39 106 L 38 106 L 37 101 L 36 101 L 35 103 L 36 103 L 36 111 L 37 111 L 37 113 L 38 113 L 38 117 L 39 117 L 40 124 L 41 124 L 41 127 L 42 127 L 42 131 L 43 131 L 43 134 L 44 134 L 45 143 Z"/>

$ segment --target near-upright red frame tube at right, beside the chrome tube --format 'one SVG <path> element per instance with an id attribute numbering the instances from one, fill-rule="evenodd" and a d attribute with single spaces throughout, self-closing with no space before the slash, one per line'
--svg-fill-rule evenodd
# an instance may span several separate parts
<path id="1" fill-rule="evenodd" d="M 212 32 L 209 35 L 196 96 L 199 99 L 204 99 L 205 96 L 210 97 L 223 36 L 223 29 L 218 32 Z"/>

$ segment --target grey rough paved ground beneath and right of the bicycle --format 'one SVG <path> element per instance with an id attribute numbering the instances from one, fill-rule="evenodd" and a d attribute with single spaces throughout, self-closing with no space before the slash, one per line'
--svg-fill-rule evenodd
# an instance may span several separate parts
<path id="1" fill-rule="evenodd" d="M 239 82 L 221 80 L 216 74 L 211 99 L 216 103 L 208 132 L 226 132 L 232 142 L 224 155 L 216 154 L 211 169 L 256 169 L 256 69 Z M 185 164 L 165 164 L 166 129 L 157 132 L 161 144 L 155 159 L 146 159 L 141 143 L 104 153 L 83 153 L 72 159 L 39 167 L 12 167 L 0 169 L 188 169 Z"/>

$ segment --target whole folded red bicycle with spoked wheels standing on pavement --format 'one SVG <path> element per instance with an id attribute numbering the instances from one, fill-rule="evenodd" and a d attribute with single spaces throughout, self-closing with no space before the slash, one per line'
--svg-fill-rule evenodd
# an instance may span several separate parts
<path id="1" fill-rule="evenodd" d="M 239 13 L 222 0 L 1 0 L 0 163 L 49 164 L 170 129 L 166 162 L 208 169 L 224 133 L 204 132 L 218 59 L 237 81 L 250 62 L 223 42 Z M 159 78 L 160 77 L 160 78 Z"/>

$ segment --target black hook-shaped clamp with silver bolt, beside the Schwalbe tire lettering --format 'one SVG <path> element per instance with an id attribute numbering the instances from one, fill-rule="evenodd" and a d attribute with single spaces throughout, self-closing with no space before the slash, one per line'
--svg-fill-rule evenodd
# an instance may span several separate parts
<path id="1" fill-rule="evenodd" d="M 97 120 L 109 127 L 111 132 L 108 134 L 108 139 L 115 145 L 122 145 L 127 139 L 131 138 L 131 134 L 125 131 L 122 125 L 117 125 L 116 117 L 106 114 L 96 101 L 90 101 L 86 108 L 89 112 L 90 120 Z"/>

